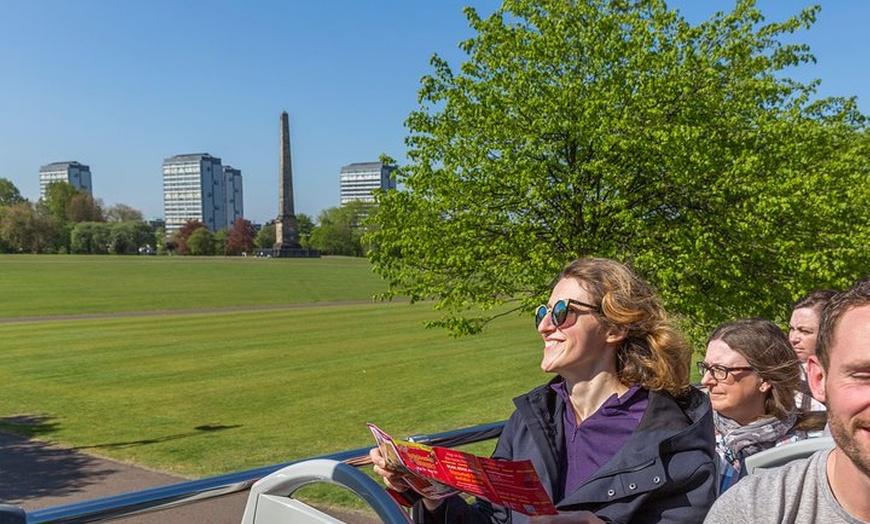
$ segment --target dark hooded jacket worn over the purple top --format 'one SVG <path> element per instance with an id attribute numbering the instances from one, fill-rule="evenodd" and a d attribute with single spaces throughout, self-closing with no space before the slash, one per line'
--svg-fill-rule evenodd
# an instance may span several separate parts
<path id="1" fill-rule="evenodd" d="M 561 380 L 556 378 L 556 381 Z M 552 384 L 552 382 L 551 382 Z M 610 461 L 572 493 L 561 493 L 565 402 L 540 386 L 514 399 L 493 458 L 530 459 L 560 511 L 587 510 L 607 522 L 697 523 L 716 498 L 716 451 L 710 401 L 692 390 L 679 399 L 650 391 L 637 429 Z M 528 517 L 484 500 L 454 496 L 435 512 L 415 507 L 423 523 L 526 523 Z"/>

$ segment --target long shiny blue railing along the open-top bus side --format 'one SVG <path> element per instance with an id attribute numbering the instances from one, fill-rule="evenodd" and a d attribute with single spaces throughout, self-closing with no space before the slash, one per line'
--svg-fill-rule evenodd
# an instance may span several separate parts
<path id="1" fill-rule="evenodd" d="M 408 440 L 431 446 L 456 447 L 497 438 L 501 434 L 504 424 L 505 422 L 495 422 L 432 435 L 414 435 Z M 249 490 L 254 482 L 281 468 L 315 458 L 339 460 L 355 467 L 367 466 L 371 463 L 368 456 L 370 448 L 371 446 L 319 457 L 307 457 L 235 473 L 31 510 L 27 512 L 27 524 L 102 522 L 134 514 L 199 503 Z"/>

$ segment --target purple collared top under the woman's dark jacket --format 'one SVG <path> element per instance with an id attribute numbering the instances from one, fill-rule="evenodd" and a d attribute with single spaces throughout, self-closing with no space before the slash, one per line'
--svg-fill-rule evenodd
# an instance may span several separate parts
<path id="1" fill-rule="evenodd" d="M 591 478 L 628 442 L 649 404 L 649 392 L 633 386 L 608 398 L 598 410 L 577 425 L 565 382 L 550 386 L 565 401 L 565 491 L 568 494 Z"/>

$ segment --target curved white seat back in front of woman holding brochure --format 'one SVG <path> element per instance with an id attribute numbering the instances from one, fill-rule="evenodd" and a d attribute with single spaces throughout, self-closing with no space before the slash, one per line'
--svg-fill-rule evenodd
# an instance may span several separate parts
<path id="1" fill-rule="evenodd" d="M 255 482 L 242 524 L 341 524 L 335 517 L 292 498 L 297 489 L 313 483 L 335 484 L 354 492 L 387 524 L 411 523 L 405 510 L 362 471 L 336 460 L 313 459 L 292 464 Z"/>

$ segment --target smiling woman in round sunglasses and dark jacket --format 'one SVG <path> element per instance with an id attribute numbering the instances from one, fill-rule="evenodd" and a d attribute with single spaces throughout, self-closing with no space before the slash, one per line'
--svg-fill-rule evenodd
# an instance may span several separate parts
<path id="1" fill-rule="evenodd" d="M 559 515 L 545 522 L 701 522 L 717 488 L 709 399 L 689 384 L 691 350 L 653 290 L 623 264 L 584 258 L 559 274 L 535 310 L 541 368 L 555 375 L 514 399 L 493 457 L 532 461 Z M 484 500 L 422 499 L 375 472 L 414 520 L 525 523 Z"/>

